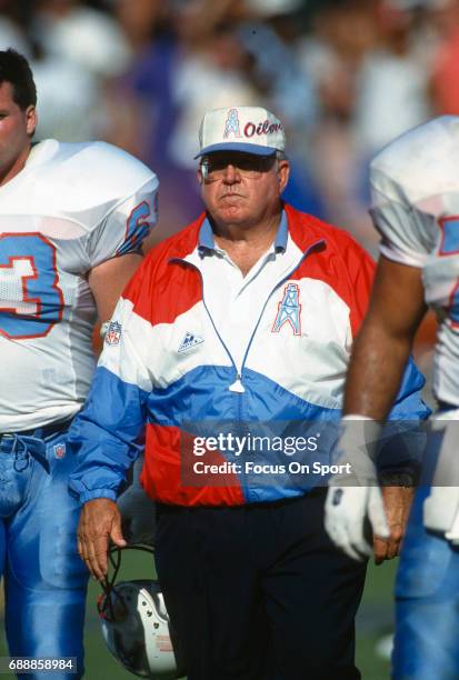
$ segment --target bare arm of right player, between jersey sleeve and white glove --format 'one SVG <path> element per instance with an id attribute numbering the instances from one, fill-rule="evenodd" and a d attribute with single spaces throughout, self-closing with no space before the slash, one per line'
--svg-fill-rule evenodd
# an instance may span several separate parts
<path id="1" fill-rule="evenodd" d="M 381 256 L 369 310 L 352 348 L 345 416 L 387 418 L 425 313 L 421 269 Z"/>

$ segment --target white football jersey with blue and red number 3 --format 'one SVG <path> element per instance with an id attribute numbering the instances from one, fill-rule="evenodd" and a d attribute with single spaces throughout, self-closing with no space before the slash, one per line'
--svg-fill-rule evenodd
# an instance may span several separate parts
<path id="1" fill-rule="evenodd" d="M 88 273 L 139 250 L 158 180 L 103 142 L 34 146 L 0 187 L 0 432 L 72 417 L 93 372 Z"/>

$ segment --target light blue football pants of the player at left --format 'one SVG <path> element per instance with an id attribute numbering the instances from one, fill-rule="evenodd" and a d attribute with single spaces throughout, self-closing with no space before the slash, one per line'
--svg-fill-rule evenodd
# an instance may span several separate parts
<path id="1" fill-rule="evenodd" d="M 0 576 L 14 657 L 77 657 L 78 672 L 30 672 L 30 680 L 83 673 L 88 571 L 77 552 L 79 506 L 68 492 L 76 464 L 67 430 L 0 440 Z"/>

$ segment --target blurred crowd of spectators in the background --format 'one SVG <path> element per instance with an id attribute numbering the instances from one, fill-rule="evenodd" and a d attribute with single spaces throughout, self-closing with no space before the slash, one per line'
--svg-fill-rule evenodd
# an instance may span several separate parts
<path id="1" fill-rule="evenodd" d="M 368 163 L 459 114 L 459 0 L 0 0 L 0 48 L 32 63 L 38 138 L 104 139 L 161 181 L 158 239 L 200 211 L 209 108 L 262 104 L 287 128 L 286 199 L 373 254 Z"/>

